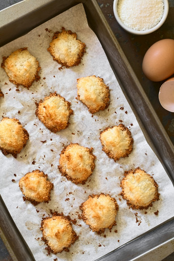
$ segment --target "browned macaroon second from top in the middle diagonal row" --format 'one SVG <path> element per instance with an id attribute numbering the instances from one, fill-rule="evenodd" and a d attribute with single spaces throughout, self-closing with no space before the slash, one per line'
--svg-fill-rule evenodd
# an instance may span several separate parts
<path id="1" fill-rule="evenodd" d="M 56 133 L 68 127 L 69 117 L 73 114 L 70 105 L 70 102 L 54 92 L 44 101 L 40 100 L 37 104 L 36 115 L 50 131 Z"/>

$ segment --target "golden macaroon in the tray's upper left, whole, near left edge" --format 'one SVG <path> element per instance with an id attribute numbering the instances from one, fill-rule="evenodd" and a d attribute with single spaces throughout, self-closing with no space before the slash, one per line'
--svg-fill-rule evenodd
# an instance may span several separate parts
<path id="1" fill-rule="evenodd" d="M 39 62 L 27 48 L 18 49 L 8 57 L 3 57 L 1 67 L 5 69 L 9 81 L 17 86 L 29 88 L 35 80 L 40 79 Z"/>

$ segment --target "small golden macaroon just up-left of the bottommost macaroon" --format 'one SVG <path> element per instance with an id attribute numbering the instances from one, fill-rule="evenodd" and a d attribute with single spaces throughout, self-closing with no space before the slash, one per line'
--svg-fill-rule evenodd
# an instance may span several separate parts
<path id="1" fill-rule="evenodd" d="M 35 170 L 27 173 L 19 180 L 19 187 L 24 194 L 24 201 L 30 201 L 34 206 L 40 202 L 50 200 L 53 183 L 48 180 L 48 175 L 44 172 Z"/>

